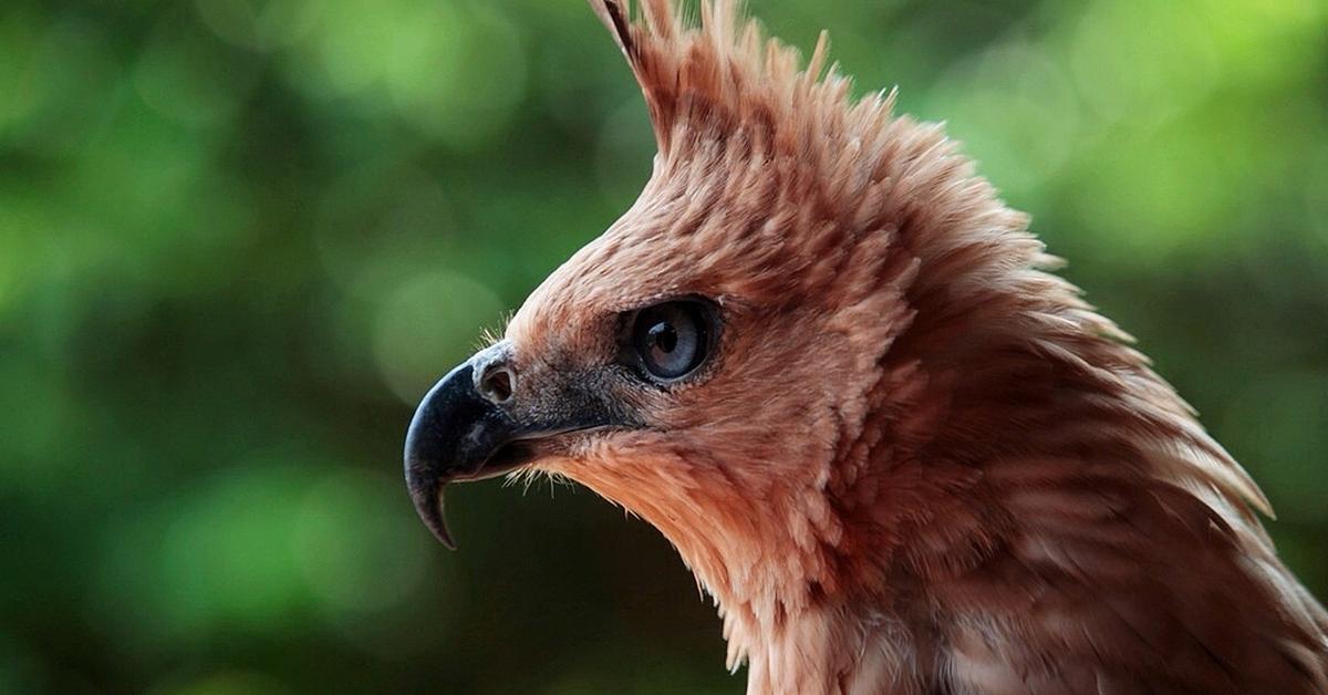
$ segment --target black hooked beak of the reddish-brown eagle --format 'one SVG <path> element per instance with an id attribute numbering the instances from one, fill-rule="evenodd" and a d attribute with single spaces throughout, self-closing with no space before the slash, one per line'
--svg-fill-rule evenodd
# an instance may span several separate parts
<path id="1" fill-rule="evenodd" d="M 405 444 L 406 489 L 425 526 L 456 550 L 442 509 L 448 482 L 509 473 L 540 454 L 540 441 L 631 424 L 576 384 L 518 379 L 511 344 L 482 349 L 425 395 Z M 594 381 L 594 380 L 591 380 Z"/>

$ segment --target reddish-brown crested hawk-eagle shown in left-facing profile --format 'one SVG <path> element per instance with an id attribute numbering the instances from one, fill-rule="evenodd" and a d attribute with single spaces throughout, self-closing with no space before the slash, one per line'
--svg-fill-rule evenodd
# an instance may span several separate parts
<path id="1" fill-rule="evenodd" d="M 591 0 L 640 198 L 444 376 L 410 496 L 538 470 L 652 524 L 749 692 L 1324 694 L 1268 501 L 938 125 L 704 0 Z"/>

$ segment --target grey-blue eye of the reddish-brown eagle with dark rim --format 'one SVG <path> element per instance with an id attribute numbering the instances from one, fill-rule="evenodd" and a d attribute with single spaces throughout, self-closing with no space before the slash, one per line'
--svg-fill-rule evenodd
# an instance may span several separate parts
<path id="1" fill-rule="evenodd" d="M 708 307 L 695 300 L 673 300 L 636 312 L 631 347 L 645 372 L 656 381 L 669 383 L 695 372 L 709 356 L 710 324 Z"/>

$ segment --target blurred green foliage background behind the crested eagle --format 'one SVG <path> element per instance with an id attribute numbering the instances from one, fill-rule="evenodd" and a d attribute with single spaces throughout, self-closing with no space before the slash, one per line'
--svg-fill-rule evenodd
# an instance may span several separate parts
<path id="1" fill-rule="evenodd" d="M 1328 8 L 752 5 L 948 120 L 1328 595 Z M 0 691 L 740 692 L 643 522 L 489 482 L 449 554 L 400 474 L 652 151 L 582 0 L 4 0 Z"/>

